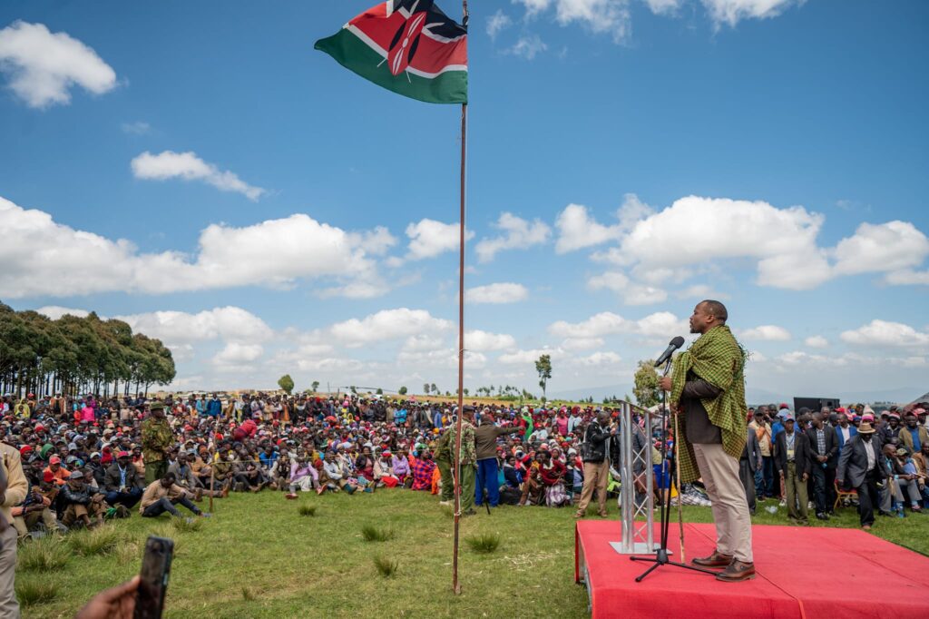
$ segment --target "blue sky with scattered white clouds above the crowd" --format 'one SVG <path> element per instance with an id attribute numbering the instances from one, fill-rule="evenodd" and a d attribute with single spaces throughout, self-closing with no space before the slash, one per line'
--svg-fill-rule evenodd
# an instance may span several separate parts
<path id="1" fill-rule="evenodd" d="M 453 389 L 458 109 L 312 49 L 371 3 L 4 3 L 0 299 L 183 389 Z M 750 395 L 929 389 L 929 5 L 471 11 L 466 386 L 623 389 L 711 295 Z"/>

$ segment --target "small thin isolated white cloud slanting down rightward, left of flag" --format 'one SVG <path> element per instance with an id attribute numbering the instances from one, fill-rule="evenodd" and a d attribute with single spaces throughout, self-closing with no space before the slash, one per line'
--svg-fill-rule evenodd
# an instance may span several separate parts
<path id="1" fill-rule="evenodd" d="M 221 171 L 216 165 L 208 164 L 193 151 L 162 151 L 151 154 L 145 151 L 132 160 L 132 173 L 136 178 L 147 180 L 203 180 L 220 191 L 235 191 L 256 201 L 265 190 L 249 185 L 232 172 Z"/>

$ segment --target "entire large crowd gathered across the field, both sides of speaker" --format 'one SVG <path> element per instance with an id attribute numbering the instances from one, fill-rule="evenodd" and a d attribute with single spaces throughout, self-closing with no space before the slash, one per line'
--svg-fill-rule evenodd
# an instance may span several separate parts
<path id="1" fill-rule="evenodd" d="M 836 480 L 857 489 L 859 508 L 868 503 L 861 495 L 870 496 L 869 484 L 876 485 L 872 503 L 880 513 L 926 507 L 924 406 L 877 418 L 864 409 L 838 409 L 801 410 L 794 419 L 786 404 L 778 411 L 762 406 L 749 413 L 743 468 L 752 508 L 773 497 L 784 502 L 792 520 L 804 522 L 812 497 L 818 517 L 828 519 Z M 3 441 L 20 451 L 30 484 L 26 499 L 13 510 L 21 537 L 95 527 L 129 517 L 134 509 L 142 517 L 177 516 L 180 506 L 208 516 L 197 506 L 203 497 L 229 492 L 277 490 L 294 498 L 298 492 L 371 494 L 398 488 L 441 494 L 445 504 L 452 499 L 456 436 L 447 430 L 453 430 L 455 418 L 440 402 L 261 393 L 224 399 L 168 396 L 164 402 L 141 395 L 29 394 L 18 402 L 0 400 L 0 415 Z M 618 419 L 609 407 L 465 406 L 463 513 L 475 513 L 474 507 L 485 502 L 491 507 L 577 504 L 582 517 L 592 489 L 581 496 L 585 463 L 579 453 L 595 418 L 595 427 L 612 437 L 608 468 L 618 477 Z M 660 428 L 656 431 L 661 435 Z M 873 462 L 862 465 L 857 451 L 853 457 L 852 437 L 858 433 L 874 436 L 872 451 L 861 452 L 873 453 Z M 650 439 L 635 433 L 636 448 L 652 452 L 661 479 L 666 467 L 655 449 L 660 436 Z M 863 477 L 857 474 L 861 467 Z M 615 482 L 604 483 L 602 490 L 598 483 L 601 515 L 606 515 L 606 488 Z M 862 525 L 870 525 L 869 518 L 862 513 Z"/>

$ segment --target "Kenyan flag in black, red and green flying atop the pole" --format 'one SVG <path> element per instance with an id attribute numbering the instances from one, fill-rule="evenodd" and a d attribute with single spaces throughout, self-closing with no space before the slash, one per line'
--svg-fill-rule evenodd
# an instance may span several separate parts
<path id="1" fill-rule="evenodd" d="M 467 103 L 467 29 L 432 0 L 387 0 L 316 48 L 405 97 Z"/>

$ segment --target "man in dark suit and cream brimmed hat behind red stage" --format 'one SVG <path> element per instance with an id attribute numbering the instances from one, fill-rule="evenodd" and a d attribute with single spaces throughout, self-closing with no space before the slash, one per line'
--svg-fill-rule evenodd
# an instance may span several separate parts
<path id="1" fill-rule="evenodd" d="M 861 422 L 857 435 L 842 450 L 835 472 L 839 485 L 857 490 L 858 519 L 865 531 L 874 524 L 874 506 L 880 505 L 877 484 L 887 477 L 880 462 L 881 441 L 873 438 L 874 432 L 869 422 Z"/>

